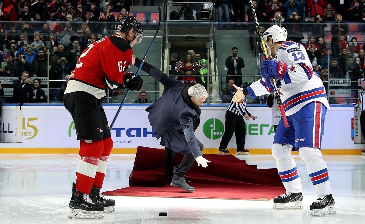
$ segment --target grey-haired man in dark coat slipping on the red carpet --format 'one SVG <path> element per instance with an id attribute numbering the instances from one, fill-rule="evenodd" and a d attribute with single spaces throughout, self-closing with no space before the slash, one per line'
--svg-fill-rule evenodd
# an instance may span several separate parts
<path id="1" fill-rule="evenodd" d="M 132 64 L 141 65 L 141 60 L 132 57 Z M 203 158 L 203 144 L 195 138 L 194 132 L 200 123 L 199 106 L 208 97 L 203 85 L 186 86 L 181 80 L 175 80 L 153 67 L 144 63 L 142 70 L 153 76 L 164 85 L 165 89 L 160 99 L 147 107 L 148 119 L 153 127 L 160 145 L 165 146 L 165 168 L 171 179 L 170 186 L 179 187 L 186 191 L 195 191 L 185 181 L 185 173 L 194 163 L 207 167 L 210 161 Z M 175 152 L 184 154 L 183 161 L 176 165 Z"/>

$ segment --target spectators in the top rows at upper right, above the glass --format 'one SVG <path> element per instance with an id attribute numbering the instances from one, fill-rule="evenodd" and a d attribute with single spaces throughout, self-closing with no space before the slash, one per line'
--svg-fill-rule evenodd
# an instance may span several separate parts
<path id="1" fill-rule="evenodd" d="M 258 21 L 261 23 L 316 22 L 316 15 L 323 21 L 335 22 L 336 15 L 345 15 L 343 20 L 365 21 L 364 0 L 253 0 Z M 245 22 L 247 14 L 252 17 L 248 0 L 216 0 L 218 22 Z M 293 16 L 293 12 L 295 16 Z"/>

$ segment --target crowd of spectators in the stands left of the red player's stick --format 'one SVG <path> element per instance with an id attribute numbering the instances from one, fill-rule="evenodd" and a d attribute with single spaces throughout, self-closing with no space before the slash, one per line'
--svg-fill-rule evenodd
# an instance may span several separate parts
<path id="1" fill-rule="evenodd" d="M 0 76 L 14 80 L 12 102 L 47 101 L 43 94 L 40 96 L 40 87 L 48 72 L 51 89 L 47 95 L 62 101 L 66 77 L 82 51 L 113 33 L 115 23 L 105 22 L 128 15 L 131 2 L 5 0 L 0 10 Z M 41 79 L 35 81 L 35 77 Z"/>

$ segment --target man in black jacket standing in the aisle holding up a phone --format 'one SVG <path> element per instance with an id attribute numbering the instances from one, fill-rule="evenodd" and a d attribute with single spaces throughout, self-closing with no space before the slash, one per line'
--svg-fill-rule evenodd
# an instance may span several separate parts
<path id="1" fill-rule="evenodd" d="M 228 83 L 228 79 L 234 79 L 234 83 L 237 86 L 242 85 L 242 76 L 228 76 L 228 75 L 242 75 L 241 69 L 245 68 L 245 62 L 243 62 L 242 57 L 238 57 L 238 48 L 233 47 L 232 48 L 232 56 L 228 56 L 226 59 L 226 68 L 227 71 L 227 77 L 226 77 L 226 83 Z"/>

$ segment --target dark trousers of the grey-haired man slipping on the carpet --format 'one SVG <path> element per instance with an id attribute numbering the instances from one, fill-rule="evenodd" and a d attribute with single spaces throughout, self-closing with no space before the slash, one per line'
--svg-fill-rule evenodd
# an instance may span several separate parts
<path id="1" fill-rule="evenodd" d="M 200 150 L 203 150 L 204 146 L 199 140 L 196 140 Z M 185 173 L 190 169 L 193 165 L 195 158 L 192 153 L 188 155 L 184 155 L 183 160 L 180 164 L 175 166 L 175 155 L 176 152 L 171 149 L 165 147 L 165 169 L 166 174 L 168 176 L 177 175 L 183 177 Z"/>

